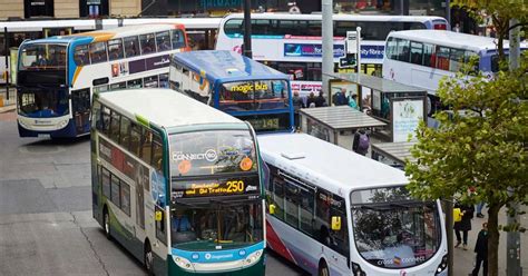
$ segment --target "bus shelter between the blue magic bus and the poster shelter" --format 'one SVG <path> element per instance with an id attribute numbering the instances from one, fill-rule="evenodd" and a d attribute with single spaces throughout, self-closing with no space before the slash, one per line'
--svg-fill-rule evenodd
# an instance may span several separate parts
<path id="1" fill-rule="evenodd" d="M 355 132 L 356 129 L 382 128 L 387 122 L 372 118 L 349 106 L 303 108 L 299 110 L 301 131 L 320 139 L 351 149 L 342 132 Z M 351 141 L 351 137 L 348 137 Z M 346 145 L 350 144 L 350 145 Z M 349 147 L 350 146 L 350 147 Z"/>

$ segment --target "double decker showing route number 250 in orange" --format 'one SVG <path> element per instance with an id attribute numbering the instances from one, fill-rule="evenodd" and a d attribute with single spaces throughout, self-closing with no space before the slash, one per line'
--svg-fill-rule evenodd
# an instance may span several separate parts
<path id="1" fill-rule="evenodd" d="M 264 193 L 250 124 L 169 89 L 96 95 L 94 218 L 149 274 L 264 275 Z"/>

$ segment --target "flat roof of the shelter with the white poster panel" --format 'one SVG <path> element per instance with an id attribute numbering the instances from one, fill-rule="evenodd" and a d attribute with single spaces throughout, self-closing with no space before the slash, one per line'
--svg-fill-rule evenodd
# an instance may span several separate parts
<path id="1" fill-rule="evenodd" d="M 364 73 L 354 73 L 354 72 L 342 72 L 342 73 L 325 73 L 326 76 L 358 83 L 362 87 L 368 87 L 374 90 L 378 90 L 382 93 L 395 93 L 395 92 L 422 92 L 427 95 L 426 89 L 407 86 L 393 80 L 383 79 L 380 77 L 369 76 Z"/>

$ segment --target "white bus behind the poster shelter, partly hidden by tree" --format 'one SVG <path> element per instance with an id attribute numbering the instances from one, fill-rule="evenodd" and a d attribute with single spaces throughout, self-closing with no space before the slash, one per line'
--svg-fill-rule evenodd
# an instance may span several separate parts
<path id="1" fill-rule="evenodd" d="M 476 58 L 475 71 L 488 78 L 499 70 L 497 39 L 442 30 L 394 31 L 389 33 L 383 58 L 383 78 L 427 89 L 429 116 L 441 108 L 436 97 L 443 77 L 452 78 Z M 527 49 L 526 43 L 521 49 Z M 508 53 L 508 41 L 505 40 Z M 472 58 L 473 57 L 473 58 Z"/>

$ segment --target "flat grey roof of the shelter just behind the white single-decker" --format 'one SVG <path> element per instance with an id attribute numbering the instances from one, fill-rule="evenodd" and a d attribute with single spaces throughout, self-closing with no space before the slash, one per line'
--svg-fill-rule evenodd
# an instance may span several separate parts
<path id="1" fill-rule="evenodd" d="M 349 106 L 303 108 L 299 112 L 334 131 L 387 126 L 385 122 Z"/>

